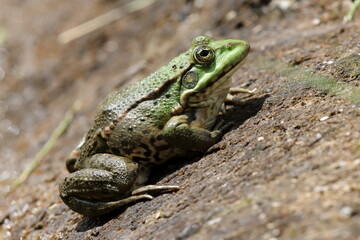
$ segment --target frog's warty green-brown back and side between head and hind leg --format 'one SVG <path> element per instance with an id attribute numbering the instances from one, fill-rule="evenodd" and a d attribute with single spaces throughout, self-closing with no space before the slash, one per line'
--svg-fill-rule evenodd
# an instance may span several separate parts
<path id="1" fill-rule="evenodd" d="M 159 132 L 171 118 L 171 109 L 179 104 L 180 85 L 178 81 L 174 81 L 155 99 L 139 99 L 146 98 L 166 80 L 177 76 L 179 71 L 189 64 L 189 54 L 189 51 L 185 52 L 140 82 L 111 93 L 100 105 L 96 118 L 86 134 L 81 147 L 80 161 L 98 152 L 112 152 L 142 161 L 154 158 L 157 153 L 153 150 L 153 157 L 149 155 L 149 143 L 161 138 Z M 99 130 L 104 130 L 114 123 L 114 120 L 116 126 L 112 129 L 109 139 L 96 136 Z M 140 154 L 136 152 L 138 146 L 142 146 Z"/>

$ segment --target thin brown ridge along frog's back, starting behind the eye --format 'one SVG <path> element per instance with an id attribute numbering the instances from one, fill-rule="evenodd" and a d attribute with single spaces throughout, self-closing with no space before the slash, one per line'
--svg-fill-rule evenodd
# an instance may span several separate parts
<path id="1" fill-rule="evenodd" d="M 117 123 L 123 119 L 126 114 L 128 114 L 132 109 L 136 108 L 140 103 L 156 99 L 159 97 L 171 84 L 177 81 L 177 79 L 183 76 L 187 71 L 189 71 L 194 66 L 194 63 L 189 63 L 187 66 L 181 69 L 177 74 L 172 76 L 169 79 L 166 79 L 164 82 L 160 84 L 160 86 L 154 88 L 146 95 L 140 97 L 136 101 L 134 101 L 128 108 L 126 108 L 122 113 L 120 113 L 108 126 L 103 129 L 99 129 L 99 131 L 95 134 L 95 136 L 101 136 L 103 139 L 107 140 L 110 137 L 112 130 L 114 130 Z M 94 144 L 96 144 L 96 138 L 94 139 Z"/>

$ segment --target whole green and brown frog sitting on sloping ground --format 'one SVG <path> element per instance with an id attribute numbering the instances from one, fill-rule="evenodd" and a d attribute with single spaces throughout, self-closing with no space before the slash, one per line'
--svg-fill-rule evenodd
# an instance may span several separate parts
<path id="1" fill-rule="evenodd" d="M 250 50 L 244 40 L 195 37 L 190 48 L 156 72 L 115 90 L 100 104 L 82 143 L 69 155 L 60 197 L 73 211 L 96 217 L 178 185 L 146 185 L 172 158 L 203 153 L 231 123 L 225 103 L 239 104 L 230 77 Z"/>

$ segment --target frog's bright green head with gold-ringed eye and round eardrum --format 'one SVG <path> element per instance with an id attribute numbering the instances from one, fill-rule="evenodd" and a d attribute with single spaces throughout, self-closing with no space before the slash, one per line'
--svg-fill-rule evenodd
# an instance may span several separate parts
<path id="1" fill-rule="evenodd" d="M 230 88 L 228 79 L 249 50 L 250 45 L 242 40 L 214 41 L 208 36 L 196 37 L 190 49 L 192 67 L 181 79 L 181 105 L 201 108 L 217 101 L 222 104 Z"/>

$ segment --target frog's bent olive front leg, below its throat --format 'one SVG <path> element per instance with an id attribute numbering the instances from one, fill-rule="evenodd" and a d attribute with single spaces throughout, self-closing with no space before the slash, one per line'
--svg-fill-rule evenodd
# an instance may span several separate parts
<path id="1" fill-rule="evenodd" d="M 173 146 L 191 150 L 204 151 L 218 142 L 223 134 L 220 130 L 209 131 L 190 126 L 187 116 L 172 117 L 163 128 L 165 139 Z"/>

